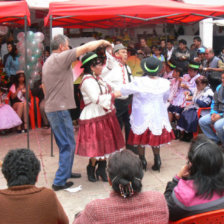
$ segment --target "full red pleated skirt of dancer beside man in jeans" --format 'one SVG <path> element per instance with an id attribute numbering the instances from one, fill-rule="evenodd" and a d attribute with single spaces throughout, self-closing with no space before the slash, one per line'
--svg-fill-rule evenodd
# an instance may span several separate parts
<path id="1" fill-rule="evenodd" d="M 89 120 L 79 120 L 76 154 L 100 157 L 120 150 L 124 145 L 115 111 Z"/>

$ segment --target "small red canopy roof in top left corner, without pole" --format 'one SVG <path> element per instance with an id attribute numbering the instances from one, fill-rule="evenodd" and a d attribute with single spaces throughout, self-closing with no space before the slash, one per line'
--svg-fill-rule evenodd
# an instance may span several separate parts
<path id="1" fill-rule="evenodd" d="M 30 11 L 26 1 L 7 1 L 0 3 L 0 24 L 6 26 L 23 26 L 27 18 L 30 25 Z"/>

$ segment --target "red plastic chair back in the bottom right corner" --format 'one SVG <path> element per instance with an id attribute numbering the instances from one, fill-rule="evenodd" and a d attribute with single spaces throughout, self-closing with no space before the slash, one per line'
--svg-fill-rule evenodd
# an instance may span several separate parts
<path id="1" fill-rule="evenodd" d="M 204 212 L 197 215 L 192 215 L 178 221 L 170 221 L 169 224 L 223 224 L 224 209 Z"/>

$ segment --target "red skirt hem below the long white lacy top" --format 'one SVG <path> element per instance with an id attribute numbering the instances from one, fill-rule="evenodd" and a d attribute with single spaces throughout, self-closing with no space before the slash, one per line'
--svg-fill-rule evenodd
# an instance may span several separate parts
<path id="1" fill-rule="evenodd" d="M 128 137 L 129 145 L 150 145 L 150 146 L 159 146 L 165 143 L 170 142 L 175 139 L 173 130 L 168 132 L 165 128 L 162 130 L 161 135 L 153 135 L 152 132 L 147 129 L 143 134 L 136 135 L 130 130 Z"/>

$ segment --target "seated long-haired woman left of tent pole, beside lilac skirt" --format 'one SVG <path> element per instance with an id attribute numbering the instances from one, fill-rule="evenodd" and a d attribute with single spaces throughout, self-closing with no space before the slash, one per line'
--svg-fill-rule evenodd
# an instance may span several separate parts
<path id="1" fill-rule="evenodd" d="M 16 81 L 9 91 L 11 92 L 10 99 L 12 108 L 16 111 L 21 120 L 23 120 L 22 126 L 17 127 L 17 132 L 27 132 L 27 112 L 26 112 L 26 80 L 24 71 L 19 70 L 16 72 Z"/>

